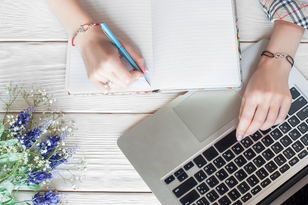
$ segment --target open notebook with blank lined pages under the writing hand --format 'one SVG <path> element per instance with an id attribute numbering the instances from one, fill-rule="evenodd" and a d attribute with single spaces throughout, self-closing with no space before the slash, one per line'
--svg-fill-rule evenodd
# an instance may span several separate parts
<path id="1" fill-rule="evenodd" d="M 234 0 L 80 0 L 95 22 L 145 59 L 143 80 L 111 92 L 240 88 L 241 66 Z M 89 36 L 90 37 L 90 36 Z M 71 94 L 99 93 L 88 80 L 76 47 L 68 42 L 65 87 Z M 123 63 L 132 69 L 126 59 Z"/>

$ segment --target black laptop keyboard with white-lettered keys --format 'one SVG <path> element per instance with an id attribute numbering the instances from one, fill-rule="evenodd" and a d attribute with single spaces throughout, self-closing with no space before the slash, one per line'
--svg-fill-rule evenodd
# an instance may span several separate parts
<path id="1" fill-rule="evenodd" d="M 308 101 L 290 89 L 284 122 L 238 142 L 235 130 L 163 179 L 182 205 L 243 205 L 308 155 Z M 307 162 L 307 160 L 306 160 Z"/>

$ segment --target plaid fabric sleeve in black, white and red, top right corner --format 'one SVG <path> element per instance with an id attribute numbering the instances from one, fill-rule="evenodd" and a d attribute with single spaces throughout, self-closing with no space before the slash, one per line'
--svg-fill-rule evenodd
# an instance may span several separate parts
<path id="1" fill-rule="evenodd" d="M 260 0 L 268 19 L 284 20 L 308 29 L 308 4 L 295 0 Z"/>

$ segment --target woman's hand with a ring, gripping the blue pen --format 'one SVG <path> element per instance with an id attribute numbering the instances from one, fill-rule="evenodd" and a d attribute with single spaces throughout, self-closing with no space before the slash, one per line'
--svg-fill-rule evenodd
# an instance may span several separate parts
<path id="1" fill-rule="evenodd" d="M 119 49 L 99 26 L 92 27 L 87 33 L 80 33 L 74 41 L 85 63 L 89 80 L 103 93 L 108 93 L 110 89 L 127 88 L 148 72 L 142 56 L 129 44 L 118 40 L 143 73 L 129 71 L 123 65 Z M 108 82 L 111 82 L 110 86 Z"/>

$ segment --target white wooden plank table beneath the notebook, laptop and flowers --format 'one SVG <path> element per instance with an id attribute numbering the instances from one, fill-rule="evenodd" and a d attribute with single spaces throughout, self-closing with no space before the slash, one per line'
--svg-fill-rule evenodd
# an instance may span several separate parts
<path id="1" fill-rule="evenodd" d="M 236 0 L 241 49 L 270 38 L 268 22 L 258 0 Z M 308 34 L 295 57 L 295 67 L 308 79 Z M 44 0 L 0 1 L 0 85 L 39 85 L 59 100 L 53 108 L 66 114 L 78 130 L 66 145 L 79 144 L 88 165 L 86 178 L 74 191 L 61 178 L 50 189 L 68 194 L 67 205 L 159 205 L 151 190 L 117 146 L 117 139 L 179 93 L 69 96 L 64 89 L 67 34 Z M 4 88 L 0 86 L 0 94 Z M 12 112 L 26 105 L 16 103 Z M 44 189 L 47 190 L 47 189 Z M 31 191 L 19 192 L 20 199 Z"/>

